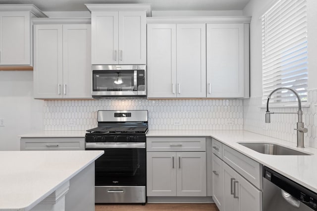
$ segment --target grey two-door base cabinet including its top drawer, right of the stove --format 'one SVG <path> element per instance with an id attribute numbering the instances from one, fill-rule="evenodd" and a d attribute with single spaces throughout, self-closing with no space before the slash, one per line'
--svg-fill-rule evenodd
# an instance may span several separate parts
<path id="1" fill-rule="evenodd" d="M 147 196 L 207 197 L 206 138 L 148 137 Z"/>

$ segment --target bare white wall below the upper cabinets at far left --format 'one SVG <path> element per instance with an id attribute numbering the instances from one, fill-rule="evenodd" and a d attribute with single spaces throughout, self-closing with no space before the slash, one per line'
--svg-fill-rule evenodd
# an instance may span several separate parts
<path id="1" fill-rule="evenodd" d="M 0 150 L 20 150 L 18 135 L 43 130 L 43 105 L 33 99 L 33 71 L 0 71 Z"/>

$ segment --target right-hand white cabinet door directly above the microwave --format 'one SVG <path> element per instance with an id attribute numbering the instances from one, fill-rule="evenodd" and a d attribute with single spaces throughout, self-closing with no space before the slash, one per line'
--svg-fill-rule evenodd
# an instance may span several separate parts
<path id="1" fill-rule="evenodd" d="M 146 64 L 146 12 L 119 12 L 119 64 Z"/>

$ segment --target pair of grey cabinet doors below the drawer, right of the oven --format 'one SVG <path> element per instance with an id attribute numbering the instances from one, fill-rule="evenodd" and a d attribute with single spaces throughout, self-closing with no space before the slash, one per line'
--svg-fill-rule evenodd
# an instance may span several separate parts
<path id="1" fill-rule="evenodd" d="M 206 194 L 206 152 L 147 152 L 147 196 Z"/>

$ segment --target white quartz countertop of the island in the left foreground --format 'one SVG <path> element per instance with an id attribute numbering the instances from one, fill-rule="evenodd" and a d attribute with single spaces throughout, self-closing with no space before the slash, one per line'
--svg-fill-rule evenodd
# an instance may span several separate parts
<path id="1" fill-rule="evenodd" d="M 28 211 L 104 151 L 0 151 L 0 211 Z"/>

